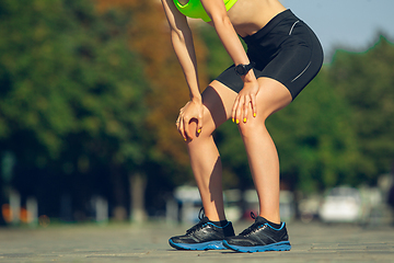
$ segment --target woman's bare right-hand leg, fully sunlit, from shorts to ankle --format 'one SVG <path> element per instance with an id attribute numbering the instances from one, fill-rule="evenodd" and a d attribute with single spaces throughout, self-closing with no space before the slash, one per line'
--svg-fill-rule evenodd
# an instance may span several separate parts
<path id="1" fill-rule="evenodd" d="M 253 181 L 259 201 L 259 216 L 279 224 L 279 159 L 275 144 L 265 126 L 266 118 L 291 102 L 290 92 L 268 78 L 258 79 L 257 116 L 240 124 Z"/>

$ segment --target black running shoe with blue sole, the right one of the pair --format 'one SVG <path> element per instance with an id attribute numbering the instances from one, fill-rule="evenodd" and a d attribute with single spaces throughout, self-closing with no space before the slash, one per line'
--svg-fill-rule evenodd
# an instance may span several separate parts
<path id="1" fill-rule="evenodd" d="M 288 251 L 291 249 L 285 222 L 273 227 L 265 218 L 255 217 L 255 222 L 239 236 L 227 238 L 223 245 L 237 252 Z"/>

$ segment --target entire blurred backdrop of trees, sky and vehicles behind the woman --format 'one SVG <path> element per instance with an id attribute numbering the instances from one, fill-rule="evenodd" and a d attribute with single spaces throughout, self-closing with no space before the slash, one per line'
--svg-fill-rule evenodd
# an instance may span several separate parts
<path id="1" fill-rule="evenodd" d="M 321 37 L 325 65 L 267 122 L 281 216 L 391 224 L 394 2 L 326 2 L 282 1 Z M 232 62 L 212 28 L 190 24 L 205 87 Z M 159 0 L 0 0 L 0 225 L 197 220 L 174 125 L 187 101 Z M 257 199 L 236 125 L 215 139 L 227 214 L 246 219 Z"/>

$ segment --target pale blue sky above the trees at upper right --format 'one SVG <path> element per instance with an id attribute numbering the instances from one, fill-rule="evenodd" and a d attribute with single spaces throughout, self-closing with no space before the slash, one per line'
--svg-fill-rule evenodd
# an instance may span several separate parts
<path id="1" fill-rule="evenodd" d="M 383 32 L 394 42 L 394 0 L 280 0 L 312 27 L 326 60 L 338 47 L 364 52 Z"/>

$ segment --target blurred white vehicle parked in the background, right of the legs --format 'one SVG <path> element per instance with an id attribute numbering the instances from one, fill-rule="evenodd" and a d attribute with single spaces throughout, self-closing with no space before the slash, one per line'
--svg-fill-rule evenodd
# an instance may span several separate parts
<path id="1" fill-rule="evenodd" d="M 318 209 L 325 222 L 355 222 L 361 217 L 361 196 L 357 188 L 338 186 L 324 197 Z"/>

